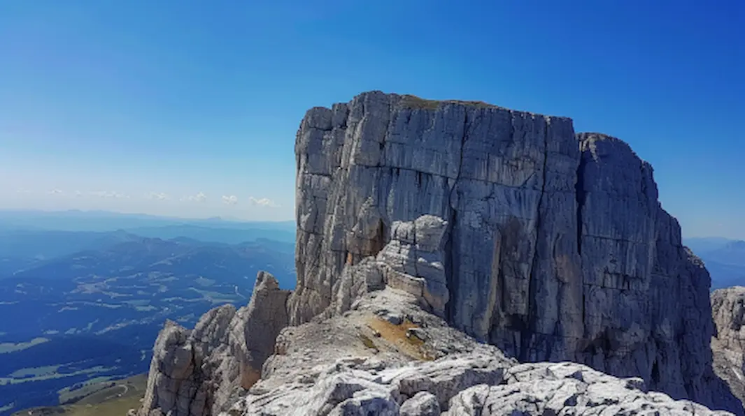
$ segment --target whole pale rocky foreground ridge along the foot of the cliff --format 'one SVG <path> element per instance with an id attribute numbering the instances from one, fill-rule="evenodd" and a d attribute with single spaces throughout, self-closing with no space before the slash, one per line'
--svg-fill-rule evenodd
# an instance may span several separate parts
<path id="1" fill-rule="evenodd" d="M 402 360 L 405 350 L 396 351 L 401 348 L 396 339 L 381 335 L 370 348 L 357 338 L 369 334 L 364 322 L 379 319 L 377 308 L 396 308 L 392 300 L 413 304 L 416 299 L 395 299 L 390 289 L 373 295 L 358 300 L 346 316 L 282 331 L 262 379 L 221 415 L 729 414 L 649 392 L 640 378 L 620 379 L 586 365 L 517 364 L 411 305 L 400 312 L 421 321 L 432 339 L 468 351 L 432 361 Z"/>

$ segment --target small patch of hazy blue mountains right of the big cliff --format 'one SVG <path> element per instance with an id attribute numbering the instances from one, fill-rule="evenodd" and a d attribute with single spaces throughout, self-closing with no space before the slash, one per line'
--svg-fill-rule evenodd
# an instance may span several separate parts
<path id="1" fill-rule="evenodd" d="M 711 290 L 745 286 L 745 241 L 721 237 L 685 238 L 711 274 Z"/>

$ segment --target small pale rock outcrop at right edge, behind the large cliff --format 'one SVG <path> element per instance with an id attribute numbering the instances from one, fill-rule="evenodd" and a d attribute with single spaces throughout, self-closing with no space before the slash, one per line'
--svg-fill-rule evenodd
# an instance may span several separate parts
<path id="1" fill-rule="evenodd" d="M 717 328 L 711 339 L 714 371 L 745 402 L 745 287 L 714 290 L 711 312 Z"/>

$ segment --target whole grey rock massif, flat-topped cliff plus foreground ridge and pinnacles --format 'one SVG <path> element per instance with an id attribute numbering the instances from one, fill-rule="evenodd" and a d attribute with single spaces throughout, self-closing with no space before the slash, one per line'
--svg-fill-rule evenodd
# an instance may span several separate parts
<path id="1" fill-rule="evenodd" d="M 229 331 L 208 313 L 209 339 L 200 325 L 165 328 L 150 379 L 167 392 L 149 394 L 143 415 L 209 414 L 188 410 L 201 399 L 179 404 L 191 388 L 171 397 L 183 389 L 171 380 L 207 385 L 212 414 L 229 390 L 244 395 L 230 410 L 240 415 L 703 412 L 682 398 L 742 412 L 712 371 L 708 273 L 657 201 L 651 166 L 621 140 L 575 134 L 564 117 L 373 91 L 308 111 L 296 155 L 286 313 L 226 318 Z M 241 325 L 242 338 L 223 334 Z M 261 354 L 236 370 L 247 359 L 235 339 L 253 337 Z M 181 355 L 194 363 L 175 374 Z M 474 370 L 484 365 L 493 371 Z M 554 403 L 557 391 L 574 393 Z"/>

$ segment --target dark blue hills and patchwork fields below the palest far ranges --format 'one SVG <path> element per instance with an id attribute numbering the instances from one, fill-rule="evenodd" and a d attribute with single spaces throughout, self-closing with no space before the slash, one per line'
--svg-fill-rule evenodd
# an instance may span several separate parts
<path id="1" fill-rule="evenodd" d="M 12 317 L 0 319 L 0 415 L 81 396 L 66 412 L 103 415 L 130 406 L 135 387 L 124 383 L 111 394 L 90 395 L 90 386 L 148 371 L 166 319 L 191 327 L 215 305 L 246 305 L 259 270 L 292 287 L 293 249 L 276 241 L 229 245 L 126 235 L 0 276 L 0 316 Z M 116 400 L 98 400 L 104 396 Z"/>

